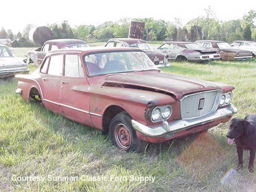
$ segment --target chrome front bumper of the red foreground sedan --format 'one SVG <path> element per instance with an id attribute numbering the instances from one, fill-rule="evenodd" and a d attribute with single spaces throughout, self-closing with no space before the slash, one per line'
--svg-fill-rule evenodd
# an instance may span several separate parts
<path id="1" fill-rule="evenodd" d="M 159 125 L 157 127 L 148 127 L 146 125 L 141 124 L 140 122 L 131 120 L 132 127 L 139 131 L 140 133 L 148 136 L 148 137 L 160 137 L 165 134 L 172 134 L 177 131 L 182 131 L 188 128 L 192 128 L 198 125 L 204 125 L 209 122 L 213 122 L 218 119 L 224 119 L 233 114 L 237 113 L 237 108 L 229 104 L 227 108 L 221 108 L 217 111 L 209 113 L 207 115 L 194 118 L 194 119 L 180 119 L 174 122 L 168 123 L 167 121 L 163 122 L 163 125 Z"/>

